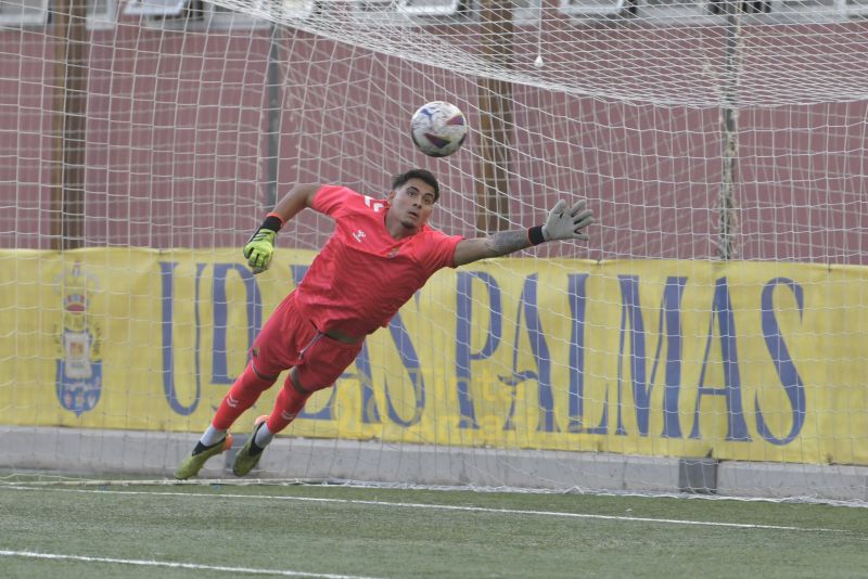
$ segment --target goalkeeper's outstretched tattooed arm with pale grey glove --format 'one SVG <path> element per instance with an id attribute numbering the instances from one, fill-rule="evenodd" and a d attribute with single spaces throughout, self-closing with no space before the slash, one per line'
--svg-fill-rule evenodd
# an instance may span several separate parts
<path id="1" fill-rule="evenodd" d="M 593 213 L 587 208 L 585 200 L 570 208 L 561 200 L 549 211 L 544 226 L 527 230 L 499 231 L 487 237 L 460 241 L 455 249 L 455 265 L 463 266 L 478 259 L 500 257 L 550 241 L 587 241 L 590 237 L 585 229 L 593 222 Z"/>

